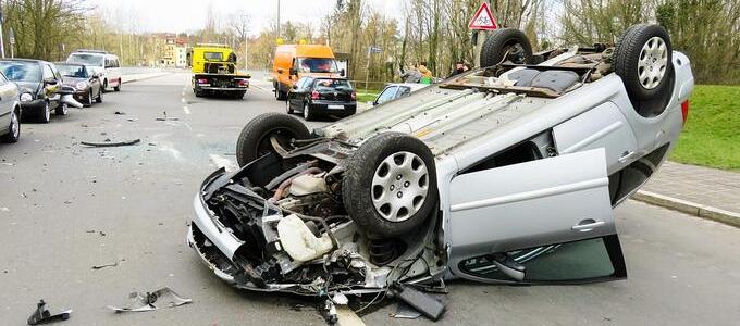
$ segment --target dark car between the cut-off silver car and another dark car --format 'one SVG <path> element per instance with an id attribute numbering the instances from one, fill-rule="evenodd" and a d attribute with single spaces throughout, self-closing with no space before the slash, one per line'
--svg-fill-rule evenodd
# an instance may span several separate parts
<path id="1" fill-rule="evenodd" d="M 23 115 L 41 123 L 51 121 L 51 110 L 57 115 L 65 115 L 69 106 L 60 101 L 57 91 L 62 86 L 62 75 L 51 62 L 33 59 L 2 59 L 0 71 L 18 87 Z"/>

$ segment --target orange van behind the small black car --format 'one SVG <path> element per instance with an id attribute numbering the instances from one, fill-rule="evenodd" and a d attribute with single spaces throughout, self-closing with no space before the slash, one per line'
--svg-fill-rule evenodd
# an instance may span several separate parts
<path id="1" fill-rule="evenodd" d="M 283 45 L 275 49 L 272 86 L 279 101 L 287 99 L 287 92 L 301 77 L 336 78 L 345 75 L 346 72 L 337 67 L 334 52 L 329 46 Z"/>

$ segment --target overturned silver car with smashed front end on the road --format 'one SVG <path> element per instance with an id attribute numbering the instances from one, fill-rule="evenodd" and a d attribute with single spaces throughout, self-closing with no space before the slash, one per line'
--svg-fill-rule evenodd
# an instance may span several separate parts
<path id="1" fill-rule="evenodd" d="M 240 170 L 195 198 L 190 247 L 238 288 L 309 296 L 625 278 L 614 208 L 676 143 L 689 59 L 636 25 L 541 53 L 498 29 L 481 61 L 312 134 L 249 122 Z"/>

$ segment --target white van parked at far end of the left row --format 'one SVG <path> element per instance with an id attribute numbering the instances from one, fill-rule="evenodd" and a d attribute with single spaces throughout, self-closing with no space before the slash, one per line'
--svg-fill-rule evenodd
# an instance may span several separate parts
<path id="1" fill-rule="evenodd" d="M 121 64 L 119 57 L 99 50 L 77 50 L 66 59 L 67 63 L 84 64 L 100 76 L 103 90 L 112 87 L 121 90 Z"/>

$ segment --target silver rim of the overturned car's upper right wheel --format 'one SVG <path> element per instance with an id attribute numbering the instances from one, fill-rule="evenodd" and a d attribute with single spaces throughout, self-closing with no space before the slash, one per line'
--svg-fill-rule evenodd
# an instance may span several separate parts
<path id="1" fill-rule="evenodd" d="M 661 85 L 668 67 L 668 47 L 657 37 L 651 37 L 640 51 L 638 60 L 638 79 L 645 89 Z"/>

